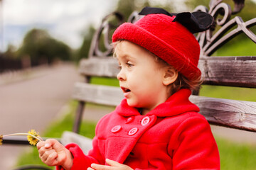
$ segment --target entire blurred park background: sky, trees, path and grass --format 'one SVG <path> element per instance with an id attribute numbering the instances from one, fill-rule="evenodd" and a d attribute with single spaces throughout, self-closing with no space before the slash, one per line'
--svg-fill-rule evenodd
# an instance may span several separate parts
<path id="1" fill-rule="evenodd" d="M 233 8 L 233 1 L 223 1 Z M 82 81 L 78 62 L 88 56 L 93 33 L 113 11 L 124 15 L 144 6 L 170 12 L 208 7 L 210 0 L 0 0 L 0 135 L 35 128 L 43 136 L 60 137 L 72 130 L 77 103 L 71 101 L 75 81 Z M 256 0 L 245 0 L 238 16 L 256 17 Z M 256 28 L 251 30 L 256 33 Z M 213 55 L 256 55 L 255 43 L 241 34 Z M 100 80 L 100 83 L 102 80 Z M 117 81 L 107 82 L 118 85 Z M 256 101 L 255 89 L 203 86 L 202 96 Z M 89 105 L 82 135 L 93 137 L 95 123 L 114 108 Z M 256 137 L 212 126 L 220 147 L 222 169 L 256 169 Z M 0 169 L 41 164 L 36 149 L 0 147 Z M 34 160 L 36 159 L 36 160 Z"/>

